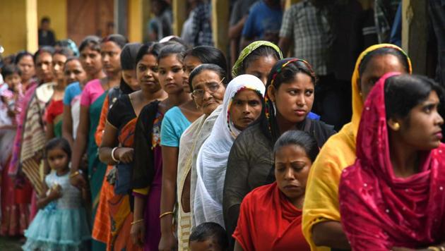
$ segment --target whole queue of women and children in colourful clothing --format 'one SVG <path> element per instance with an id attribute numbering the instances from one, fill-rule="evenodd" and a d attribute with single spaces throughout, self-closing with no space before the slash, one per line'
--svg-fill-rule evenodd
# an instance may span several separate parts
<path id="1" fill-rule="evenodd" d="M 445 92 L 411 73 L 395 45 L 363 51 L 336 133 L 311 113 L 310 62 L 270 42 L 232 69 L 176 38 L 20 52 L 2 233 L 24 250 L 445 250 Z"/>

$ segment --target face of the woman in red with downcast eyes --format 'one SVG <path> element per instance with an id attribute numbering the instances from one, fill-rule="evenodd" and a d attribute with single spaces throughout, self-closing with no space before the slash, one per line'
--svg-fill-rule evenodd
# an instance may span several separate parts
<path id="1" fill-rule="evenodd" d="M 291 202 L 304 196 L 311 166 L 306 151 L 297 145 L 285 145 L 275 152 L 275 179 Z"/>

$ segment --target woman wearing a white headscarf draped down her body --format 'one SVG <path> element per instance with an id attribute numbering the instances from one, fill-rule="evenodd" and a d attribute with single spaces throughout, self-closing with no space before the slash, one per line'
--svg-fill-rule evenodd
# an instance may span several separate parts
<path id="1" fill-rule="evenodd" d="M 198 153 L 194 226 L 203 222 L 224 226 L 223 187 L 230 148 L 239 133 L 259 118 L 264 92 L 263 82 L 254 75 L 239 75 L 227 85 L 223 109 Z"/>

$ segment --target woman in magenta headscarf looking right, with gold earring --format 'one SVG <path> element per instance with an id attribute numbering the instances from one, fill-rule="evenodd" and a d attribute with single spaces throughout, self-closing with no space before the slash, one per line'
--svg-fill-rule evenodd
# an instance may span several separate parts
<path id="1" fill-rule="evenodd" d="M 352 250 L 445 250 L 444 90 L 388 73 L 364 103 L 357 160 L 340 179 Z"/>

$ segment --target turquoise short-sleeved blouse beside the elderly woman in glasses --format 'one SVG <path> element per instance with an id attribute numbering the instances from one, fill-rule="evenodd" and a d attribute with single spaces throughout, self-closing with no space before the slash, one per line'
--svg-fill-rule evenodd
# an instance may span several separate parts
<path id="1" fill-rule="evenodd" d="M 165 113 L 161 125 L 161 143 L 165 147 L 179 147 L 179 140 L 182 133 L 186 130 L 191 122 L 182 114 L 178 106 Z"/>

